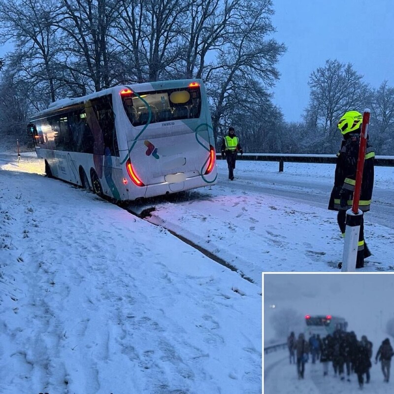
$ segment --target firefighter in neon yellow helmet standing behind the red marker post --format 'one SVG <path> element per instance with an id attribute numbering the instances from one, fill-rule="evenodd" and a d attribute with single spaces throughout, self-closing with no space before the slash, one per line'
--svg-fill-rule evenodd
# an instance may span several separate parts
<path id="1" fill-rule="evenodd" d="M 334 187 L 332 188 L 329 198 L 328 209 L 338 211 L 337 221 L 342 236 L 345 235 L 346 230 L 346 211 L 353 205 L 361 123 L 362 115 L 357 111 L 346 112 L 338 122 L 338 129 L 343 135 L 343 141 L 341 149 L 337 153 Z M 375 152 L 368 139 L 366 143 L 359 202 L 359 209 L 362 212 L 369 211 L 371 204 L 374 181 L 374 157 Z M 363 218 L 361 218 L 356 268 L 362 268 L 364 266 L 364 259 L 370 255 L 371 253 L 364 241 L 364 224 Z M 338 266 L 341 267 L 342 263 L 339 263 Z"/>

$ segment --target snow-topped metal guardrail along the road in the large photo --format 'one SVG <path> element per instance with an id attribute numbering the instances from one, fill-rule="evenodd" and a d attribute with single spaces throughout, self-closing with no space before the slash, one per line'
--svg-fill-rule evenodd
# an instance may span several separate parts
<path id="1" fill-rule="evenodd" d="M 220 153 L 216 154 L 221 159 Z M 323 163 L 335 164 L 336 155 L 308 155 L 308 154 L 283 154 L 283 153 L 244 153 L 238 155 L 237 160 L 252 160 L 262 162 L 279 162 L 279 172 L 283 172 L 285 162 L 289 163 Z M 394 167 L 394 156 L 375 156 L 375 165 Z"/>

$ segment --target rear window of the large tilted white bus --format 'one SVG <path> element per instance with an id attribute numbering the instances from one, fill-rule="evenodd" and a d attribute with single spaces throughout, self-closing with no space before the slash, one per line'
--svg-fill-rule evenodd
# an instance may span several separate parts
<path id="1" fill-rule="evenodd" d="M 133 126 L 146 125 L 149 116 L 149 123 L 199 118 L 201 111 L 199 88 L 138 93 L 138 96 L 122 94 L 122 102 Z"/>

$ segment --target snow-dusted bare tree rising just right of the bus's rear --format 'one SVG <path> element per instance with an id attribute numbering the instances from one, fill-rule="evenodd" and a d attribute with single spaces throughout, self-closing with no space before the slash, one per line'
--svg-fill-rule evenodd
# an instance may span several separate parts
<path id="1" fill-rule="evenodd" d="M 216 65 L 205 76 L 213 100 L 215 135 L 222 117 L 232 111 L 234 105 L 253 101 L 254 97 L 262 98 L 264 88 L 272 87 L 279 78 L 275 64 L 286 48 L 266 38 L 275 30 L 270 20 L 271 5 L 271 0 L 237 3 L 234 17 L 226 28 L 228 42 L 217 49 Z M 269 99 L 269 95 L 264 96 L 263 101 Z M 249 115 L 245 111 L 245 118 Z"/>

